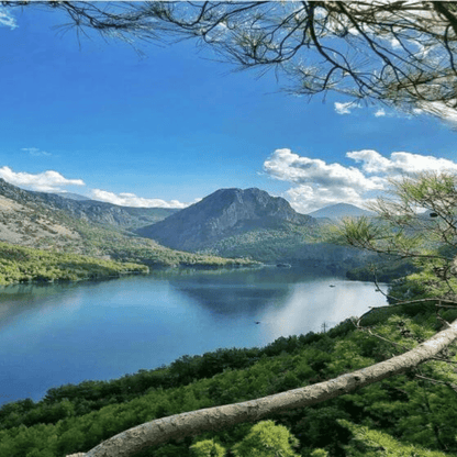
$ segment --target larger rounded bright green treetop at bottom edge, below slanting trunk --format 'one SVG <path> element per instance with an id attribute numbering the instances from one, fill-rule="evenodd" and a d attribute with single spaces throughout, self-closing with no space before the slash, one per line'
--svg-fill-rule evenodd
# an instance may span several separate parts
<path id="1" fill-rule="evenodd" d="M 298 444 L 299 441 L 283 425 L 263 421 L 234 446 L 233 454 L 236 457 L 298 457 L 292 449 Z"/>

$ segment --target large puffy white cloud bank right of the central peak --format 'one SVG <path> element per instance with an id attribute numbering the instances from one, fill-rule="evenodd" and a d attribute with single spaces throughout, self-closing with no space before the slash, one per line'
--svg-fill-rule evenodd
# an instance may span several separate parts
<path id="1" fill-rule="evenodd" d="M 388 179 L 422 171 L 457 172 L 457 163 L 433 156 L 395 152 L 384 157 L 376 151 L 349 152 L 355 166 L 327 164 L 302 157 L 290 149 L 277 149 L 265 160 L 272 178 L 291 183 L 286 192 L 291 205 L 308 213 L 335 203 L 364 207 L 388 188 Z"/>

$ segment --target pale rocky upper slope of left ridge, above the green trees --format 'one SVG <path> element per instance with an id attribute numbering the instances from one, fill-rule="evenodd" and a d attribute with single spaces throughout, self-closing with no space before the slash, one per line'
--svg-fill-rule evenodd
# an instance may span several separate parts
<path id="1" fill-rule="evenodd" d="M 77 201 L 24 190 L 0 179 L 0 242 L 22 246 L 104 255 L 103 245 L 120 248 L 126 242 L 126 231 L 157 222 L 174 211 Z"/>

